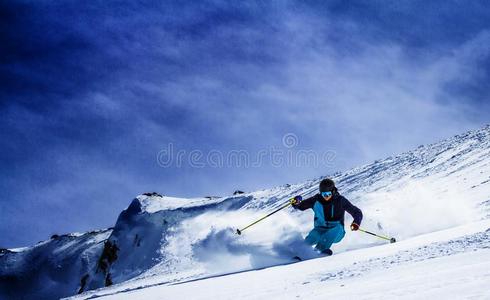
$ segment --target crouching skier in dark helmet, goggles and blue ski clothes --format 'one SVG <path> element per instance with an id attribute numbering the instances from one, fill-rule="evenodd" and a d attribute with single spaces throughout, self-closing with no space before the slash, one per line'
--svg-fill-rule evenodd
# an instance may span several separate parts
<path id="1" fill-rule="evenodd" d="M 315 245 L 315 249 L 325 255 L 332 255 L 332 244 L 340 242 L 345 236 L 345 211 L 354 218 L 350 225 L 352 231 L 358 230 L 362 221 L 362 211 L 340 195 L 334 181 L 328 178 L 320 182 L 319 194 L 305 200 L 296 196 L 291 204 L 299 210 L 313 209 L 314 228 L 305 241 L 312 246 Z"/>

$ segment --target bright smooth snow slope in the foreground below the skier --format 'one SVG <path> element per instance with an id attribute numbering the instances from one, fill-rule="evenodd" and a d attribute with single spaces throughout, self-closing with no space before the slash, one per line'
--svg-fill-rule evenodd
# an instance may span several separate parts
<path id="1" fill-rule="evenodd" d="M 488 299 L 489 279 L 490 220 L 486 220 L 396 244 L 259 271 L 136 288 L 102 298 Z"/>

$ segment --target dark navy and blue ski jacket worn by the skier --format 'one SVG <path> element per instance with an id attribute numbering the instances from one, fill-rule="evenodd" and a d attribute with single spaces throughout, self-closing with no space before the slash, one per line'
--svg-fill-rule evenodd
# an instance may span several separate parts
<path id="1" fill-rule="evenodd" d="M 340 222 L 344 226 L 344 214 L 347 211 L 354 222 L 361 225 L 362 211 L 339 193 L 334 193 L 332 199 L 326 201 L 320 194 L 301 201 L 299 210 L 312 208 L 315 212 L 315 227 L 329 227 L 328 222 Z"/>

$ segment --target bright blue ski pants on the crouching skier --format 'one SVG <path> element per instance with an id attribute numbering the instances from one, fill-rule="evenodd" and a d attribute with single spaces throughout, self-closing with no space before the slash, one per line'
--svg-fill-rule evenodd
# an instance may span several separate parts
<path id="1" fill-rule="evenodd" d="M 306 236 L 305 241 L 316 245 L 319 251 L 330 249 L 333 243 L 340 242 L 345 236 L 344 226 L 340 222 L 328 222 L 327 227 L 315 227 Z"/>

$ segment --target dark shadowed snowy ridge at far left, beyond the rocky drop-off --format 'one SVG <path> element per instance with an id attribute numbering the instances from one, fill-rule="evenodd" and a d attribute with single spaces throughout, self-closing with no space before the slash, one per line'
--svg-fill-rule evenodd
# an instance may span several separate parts
<path id="1" fill-rule="evenodd" d="M 30 248 L 0 253 L 0 299 L 52 299 L 53 288 L 59 295 L 76 293 L 80 274 L 97 262 L 111 232 L 53 236 Z"/>

